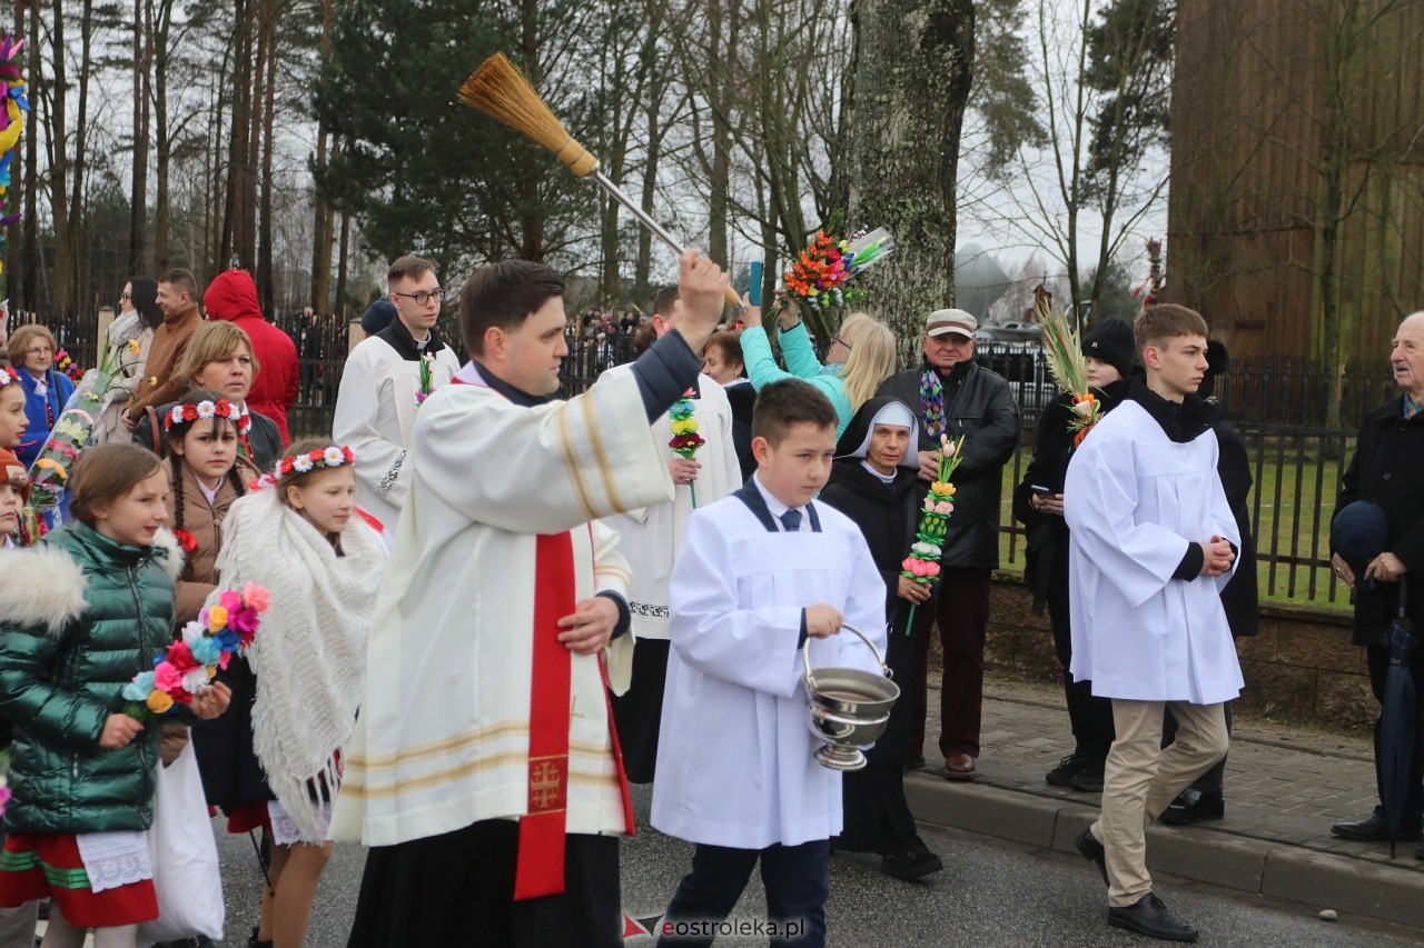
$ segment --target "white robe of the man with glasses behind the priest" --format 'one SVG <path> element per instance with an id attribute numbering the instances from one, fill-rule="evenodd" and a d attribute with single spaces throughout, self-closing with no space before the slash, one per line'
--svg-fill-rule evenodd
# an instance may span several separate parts
<path id="1" fill-rule="evenodd" d="M 433 389 L 447 384 L 460 363 L 444 346 L 430 366 Z M 416 430 L 420 364 L 403 359 L 384 339 L 369 336 L 352 349 L 332 416 L 332 437 L 356 454 L 356 502 L 396 530 L 410 485 L 406 453 Z"/>

